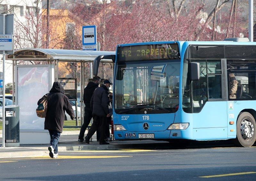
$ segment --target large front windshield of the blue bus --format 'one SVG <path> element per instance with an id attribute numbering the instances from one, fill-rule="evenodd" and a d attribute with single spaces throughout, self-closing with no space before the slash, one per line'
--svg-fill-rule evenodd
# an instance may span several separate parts
<path id="1" fill-rule="evenodd" d="M 114 109 L 117 114 L 178 110 L 180 60 L 118 62 Z"/>

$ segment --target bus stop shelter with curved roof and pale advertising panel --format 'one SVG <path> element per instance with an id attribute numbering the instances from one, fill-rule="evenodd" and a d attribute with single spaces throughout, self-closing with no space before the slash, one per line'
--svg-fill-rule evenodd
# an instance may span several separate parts
<path id="1" fill-rule="evenodd" d="M 51 90 L 55 81 L 63 85 L 69 99 L 80 103 L 80 107 L 76 104 L 76 110 L 80 109 L 82 125 L 84 87 L 92 80 L 92 62 L 99 55 L 115 55 L 115 52 L 24 48 L 6 55 L 6 60 L 12 60 L 13 104 L 20 106 L 20 144 L 49 143 L 44 118 L 36 116 L 36 108 L 37 101 Z M 102 59 L 100 64 L 102 80 L 113 81 L 113 61 Z"/>

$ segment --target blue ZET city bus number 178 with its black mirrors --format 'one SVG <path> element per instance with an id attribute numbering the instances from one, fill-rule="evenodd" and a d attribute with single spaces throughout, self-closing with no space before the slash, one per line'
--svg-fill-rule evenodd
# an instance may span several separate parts
<path id="1" fill-rule="evenodd" d="M 110 58 L 116 140 L 254 144 L 255 42 L 132 43 L 118 45 Z"/>

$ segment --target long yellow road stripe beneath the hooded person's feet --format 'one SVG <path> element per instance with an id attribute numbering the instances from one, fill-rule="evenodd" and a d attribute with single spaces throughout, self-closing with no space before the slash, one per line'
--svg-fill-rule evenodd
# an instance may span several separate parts
<path id="1" fill-rule="evenodd" d="M 58 156 L 57 159 L 75 159 L 75 158 L 120 158 L 120 157 L 132 157 L 132 156 Z M 52 159 L 49 156 L 35 156 L 35 157 L 25 157 L 19 159 Z M 56 159 L 56 158 L 54 158 Z"/>

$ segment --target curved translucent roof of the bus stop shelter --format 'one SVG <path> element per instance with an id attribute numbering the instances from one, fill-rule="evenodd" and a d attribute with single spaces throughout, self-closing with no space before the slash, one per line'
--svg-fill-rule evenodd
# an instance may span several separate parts
<path id="1" fill-rule="evenodd" d="M 14 51 L 14 54 L 7 54 L 6 60 L 28 60 L 28 61 L 72 61 L 72 62 L 93 62 L 99 55 L 115 55 L 110 51 L 85 51 L 85 50 L 64 50 L 64 49 L 42 49 L 22 48 Z M 102 62 L 112 60 L 102 59 Z"/>

